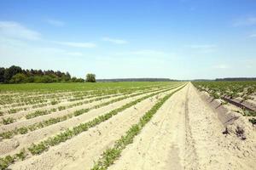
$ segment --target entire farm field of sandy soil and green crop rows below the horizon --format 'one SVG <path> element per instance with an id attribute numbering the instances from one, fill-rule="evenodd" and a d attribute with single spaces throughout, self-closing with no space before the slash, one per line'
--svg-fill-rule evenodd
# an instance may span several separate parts
<path id="1" fill-rule="evenodd" d="M 2 84 L 0 169 L 253 169 L 255 89 L 255 82 Z"/>

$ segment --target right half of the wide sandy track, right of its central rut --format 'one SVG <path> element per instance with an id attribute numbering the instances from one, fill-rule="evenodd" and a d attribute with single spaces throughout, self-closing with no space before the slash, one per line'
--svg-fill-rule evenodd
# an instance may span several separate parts
<path id="1" fill-rule="evenodd" d="M 188 119 L 198 169 L 255 169 L 255 138 L 241 140 L 223 134 L 218 113 L 212 111 L 192 86 L 188 95 Z"/>

